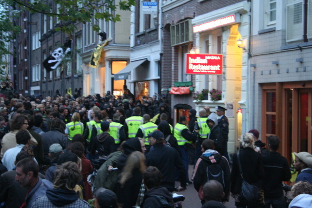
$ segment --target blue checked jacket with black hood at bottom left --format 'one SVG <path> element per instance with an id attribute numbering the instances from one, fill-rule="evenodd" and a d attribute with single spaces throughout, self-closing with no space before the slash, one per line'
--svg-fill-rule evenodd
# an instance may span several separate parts
<path id="1" fill-rule="evenodd" d="M 32 208 L 89 208 L 89 204 L 78 198 L 74 190 L 48 189 L 46 196 L 38 197 L 32 204 Z"/>

